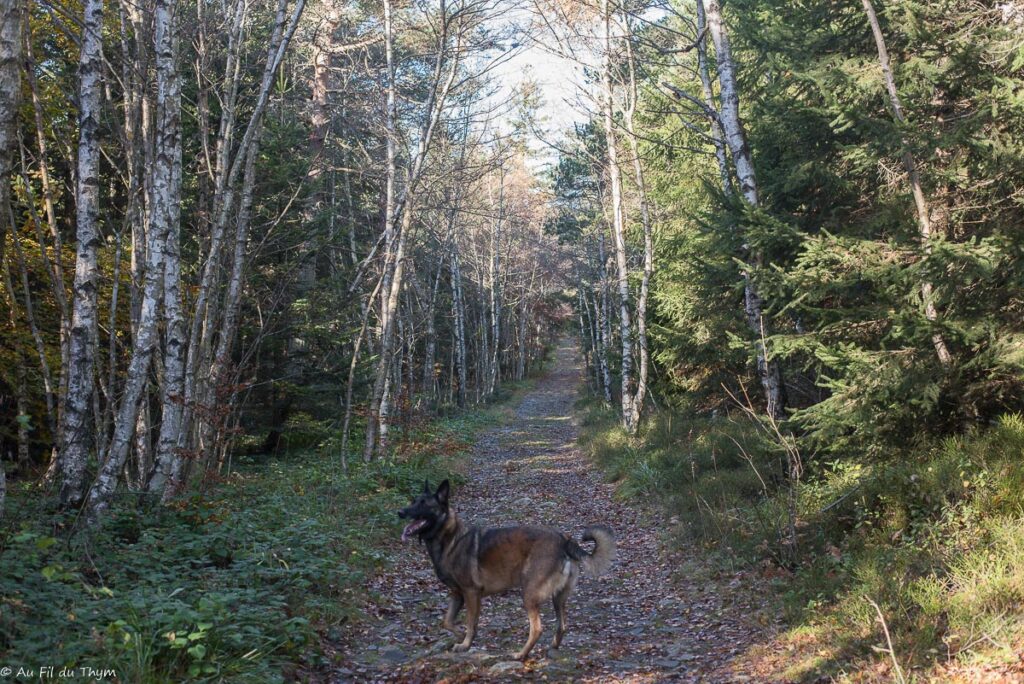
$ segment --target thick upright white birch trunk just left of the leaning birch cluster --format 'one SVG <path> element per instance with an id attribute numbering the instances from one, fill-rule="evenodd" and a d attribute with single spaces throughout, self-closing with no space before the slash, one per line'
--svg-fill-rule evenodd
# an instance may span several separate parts
<path id="1" fill-rule="evenodd" d="M 78 174 L 75 193 L 78 248 L 68 352 L 68 393 L 60 424 L 60 505 L 77 507 L 85 494 L 85 470 L 95 439 L 95 389 L 99 285 L 99 108 L 102 94 L 103 0 L 83 4 L 79 56 Z"/>

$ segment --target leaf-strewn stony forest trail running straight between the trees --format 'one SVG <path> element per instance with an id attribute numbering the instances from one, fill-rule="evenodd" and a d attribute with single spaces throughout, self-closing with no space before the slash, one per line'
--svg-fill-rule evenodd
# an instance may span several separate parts
<path id="1" fill-rule="evenodd" d="M 518 593 L 484 599 L 473 648 L 450 652 L 454 637 L 440 629 L 446 592 L 422 546 L 399 542 L 396 518 L 385 550 L 393 562 L 369 583 L 372 614 L 338 645 L 343 666 L 334 681 L 746 680 L 731 660 L 765 636 L 754 622 L 756 599 L 737 579 L 709 585 L 679 576 L 674 570 L 685 557 L 663 544 L 667 523 L 612 497 L 614 485 L 577 447 L 572 410 L 581 373 L 575 347 L 563 341 L 512 418 L 478 439 L 467 482 L 453 494 L 459 515 L 483 526 L 543 524 L 577 540 L 589 523 L 614 529 L 615 564 L 605 576 L 581 579 L 557 654 L 546 655 L 554 634 L 546 604 L 544 634 L 530 658 L 511 660 L 527 632 Z"/>

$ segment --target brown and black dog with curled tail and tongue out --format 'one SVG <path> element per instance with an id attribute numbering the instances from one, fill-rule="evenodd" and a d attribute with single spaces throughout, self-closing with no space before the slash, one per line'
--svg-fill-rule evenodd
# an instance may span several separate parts
<path id="1" fill-rule="evenodd" d="M 456 644 L 456 652 L 468 650 L 476 636 L 480 599 L 513 589 L 522 590 L 522 602 L 529 617 L 529 637 L 516 653 L 523 660 L 541 637 L 541 603 L 551 599 L 558 616 L 553 648 L 565 636 L 565 604 L 580 572 L 603 574 L 615 556 L 615 541 L 609 528 L 588 527 L 585 542 L 594 542 L 594 551 L 581 548 L 570 537 L 550 527 L 496 527 L 480 529 L 464 523 L 449 505 L 447 480 L 423 493 L 398 517 L 412 520 L 401 532 L 402 541 L 414 535 L 427 547 L 437 579 L 451 592 L 441 627 L 458 635 L 456 617 L 466 606 L 466 636 Z"/>

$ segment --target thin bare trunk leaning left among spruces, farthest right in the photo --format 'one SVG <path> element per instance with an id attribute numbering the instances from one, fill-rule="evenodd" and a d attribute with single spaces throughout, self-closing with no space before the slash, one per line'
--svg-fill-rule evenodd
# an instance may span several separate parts
<path id="1" fill-rule="evenodd" d="M 896 91 L 896 80 L 893 78 L 892 66 L 889 60 L 889 50 L 886 48 L 886 39 L 882 35 L 882 27 L 879 25 L 879 17 L 874 13 L 874 6 L 871 0 L 861 0 L 864 5 L 864 12 L 867 14 L 867 22 L 871 25 L 871 34 L 874 36 L 874 45 L 879 51 L 879 63 L 882 66 L 882 76 L 886 82 L 886 91 L 889 93 L 889 106 L 893 112 L 893 119 L 900 126 L 906 125 L 906 117 L 903 115 L 903 105 Z M 926 254 L 932 251 L 932 215 L 925 198 L 925 190 L 921 186 L 921 174 L 918 172 L 918 163 L 910 152 L 909 142 L 904 137 L 903 143 L 903 168 L 906 169 L 907 181 L 910 183 L 910 194 L 913 196 L 913 206 L 918 213 L 918 234 L 921 237 L 921 246 Z M 930 281 L 922 281 L 921 297 L 925 305 L 925 317 L 935 324 L 939 319 L 939 312 L 935 306 L 935 296 Z M 952 355 L 943 339 L 941 333 L 932 335 L 932 346 L 935 347 L 935 354 L 939 357 L 939 362 L 949 366 L 952 362 Z"/>

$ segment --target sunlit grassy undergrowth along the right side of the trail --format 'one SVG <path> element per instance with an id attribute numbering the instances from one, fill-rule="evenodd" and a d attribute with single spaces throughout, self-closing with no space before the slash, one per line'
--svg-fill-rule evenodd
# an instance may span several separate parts
<path id="1" fill-rule="evenodd" d="M 745 419 L 662 413 L 629 437 L 594 400 L 581 410 L 582 444 L 623 496 L 656 500 L 678 517 L 680 544 L 772 589 L 787 624 L 776 644 L 787 681 L 893 677 L 872 601 L 910 680 L 938 667 L 1017 662 L 1021 416 L 894 447 L 884 461 L 804 455 L 794 493 L 784 452 Z"/>

